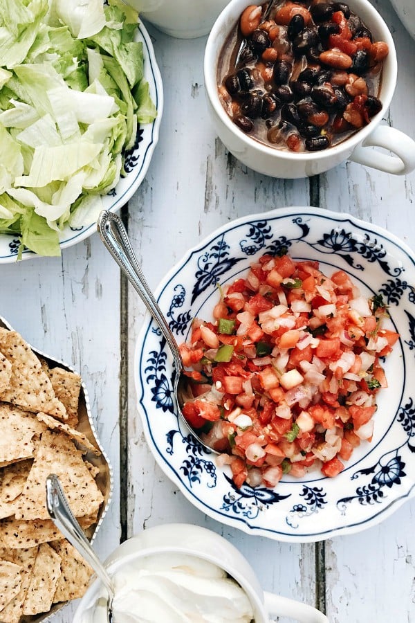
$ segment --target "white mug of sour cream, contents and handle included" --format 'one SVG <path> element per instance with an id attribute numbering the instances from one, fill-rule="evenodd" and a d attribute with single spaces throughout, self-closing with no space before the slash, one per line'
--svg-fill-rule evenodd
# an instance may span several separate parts
<path id="1" fill-rule="evenodd" d="M 268 623 L 270 615 L 328 623 L 312 606 L 264 592 L 242 554 L 203 527 L 167 524 L 125 541 L 105 562 L 116 597 L 114 623 Z M 73 623 L 106 623 L 97 579 Z"/>

